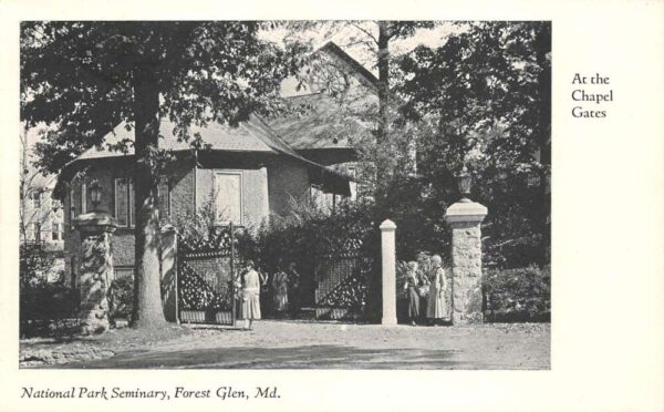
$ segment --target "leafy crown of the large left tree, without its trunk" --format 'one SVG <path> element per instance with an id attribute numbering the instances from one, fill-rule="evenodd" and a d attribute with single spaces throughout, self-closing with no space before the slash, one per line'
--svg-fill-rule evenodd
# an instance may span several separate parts
<path id="1" fill-rule="evenodd" d="M 159 115 L 177 125 L 183 140 L 189 140 L 191 124 L 235 125 L 253 112 L 284 110 L 278 99 L 281 80 L 300 65 L 305 48 L 261 40 L 260 31 L 272 25 L 23 22 L 21 117 L 29 126 L 56 126 L 37 146 L 38 165 L 56 172 L 85 148 L 101 145 L 122 121 L 132 124 L 137 68 L 147 68 L 156 79 Z"/>

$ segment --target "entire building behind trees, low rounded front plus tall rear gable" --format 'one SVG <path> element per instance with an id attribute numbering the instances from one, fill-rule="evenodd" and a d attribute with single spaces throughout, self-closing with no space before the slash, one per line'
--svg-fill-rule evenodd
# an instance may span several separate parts
<path id="1" fill-rule="evenodd" d="M 209 145 L 197 151 L 189 143 L 178 142 L 175 125 L 162 121 L 159 132 L 164 138 L 159 147 L 176 158 L 159 185 L 162 218 L 173 222 L 211 204 L 219 225 L 232 223 L 252 229 L 272 214 L 288 214 L 297 203 L 313 200 L 333 210 L 339 199 L 356 197 L 357 154 L 351 137 L 366 135 L 371 125 L 349 119 L 341 109 L 351 101 L 375 104 L 377 80 L 334 43 L 325 44 L 317 54 L 320 59 L 314 64 L 330 69 L 326 78 L 310 78 L 300 92 L 294 91 L 293 79 L 282 86 L 287 99 L 311 107 L 304 115 L 272 120 L 252 115 L 238 127 L 191 126 L 189 133 L 199 133 Z M 339 87 L 347 99 L 338 99 L 330 87 Z M 345 121 L 332 122 L 334 115 L 345 116 Z M 124 123 L 104 136 L 105 144 L 111 145 L 133 140 L 131 125 Z M 72 222 L 93 209 L 87 190 L 93 182 L 102 189 L 97 208 L 110 213 L 118 224 L 112 245 L 115 276 L 133 272 L 133 162 L 132 147 L 126 153 L 92 147 L 61 172 L 56 192 L 63 199 L 66 272 L 72 279 L 81 244 Z"/>

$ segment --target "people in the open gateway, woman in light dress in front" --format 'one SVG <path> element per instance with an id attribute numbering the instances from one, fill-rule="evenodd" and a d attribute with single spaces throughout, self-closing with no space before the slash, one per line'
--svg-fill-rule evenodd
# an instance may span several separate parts
<path id="1" fill-rule="evenodd" d="M 283 316 L 289 309 L 289 300 L 293 300 L 293 291 L 298 288 L 298 278 L 295 264 L 292 262 L 288 266 L 288 271 L 283 270 L 280 265 L 274 275 L 272 275 L 273 307 L 278 316 Z M 240 274 L 240 281 L 239 319 L 245 319 L 245 329 L 251 330 L 253 320 L 261 318 L 261 290 L 264 292 L 269 290 L 269 277 L 268 275 L 259 274 L 256 270 L 253 260 L 249 259 Z M 290 299 L 289 295 L 291 296 Z"/>

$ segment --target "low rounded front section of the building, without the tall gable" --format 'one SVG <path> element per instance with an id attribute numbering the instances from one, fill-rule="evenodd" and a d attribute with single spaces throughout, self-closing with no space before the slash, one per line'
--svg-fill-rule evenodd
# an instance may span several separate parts
<path id="1" fill-rule="evenodd" d="M 211 124 L 193 127 L 209 148 L 194 151 L 178 142 L 174 125 L 160 124 L 160 147 L 175 155 L 159 185 L 162 218 L 175 220 L 190 216 L 210 203 L 219 225 L 252 229 L 271 214 L 287 214 L 293 203 L 309 202 L 311 188 L 338 196 L 350 196 L 350 179 L 310 161 L 284 143 L 260 117 L 252 116 L 238 127 Z M 131 127 L 120 124 L 105 136 L 106 143 L 132 141 Z M 61 173 L 64 194 L 65 249 L 68 267 L 75 269 L 81 239 L 73 227 L 75 216 L 92 212 L 87 188 L 98 183 L 102 198 L 98 210 L 110 213 L 118 228 L 113 237 L 116 276 L 132 274 L 134 267 L 134 154 L 93 147 L 69 163 Z M 73 272 L 72 272 L 73 274 Z"/>

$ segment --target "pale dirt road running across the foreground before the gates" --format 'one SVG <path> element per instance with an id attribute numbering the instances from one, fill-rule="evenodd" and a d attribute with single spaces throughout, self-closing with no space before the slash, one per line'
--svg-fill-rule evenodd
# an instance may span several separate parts
<path id="1" fill-rule="evenodd" d="M 266 320 L 253 331 L 194 329 L 59 368 L 549 369 L 548 323 L 381 327 Z"/>

